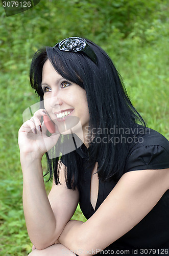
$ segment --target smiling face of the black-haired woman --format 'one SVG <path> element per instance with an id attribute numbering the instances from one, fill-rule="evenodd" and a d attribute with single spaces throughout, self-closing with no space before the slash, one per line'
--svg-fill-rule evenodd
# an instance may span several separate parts
<path id="1" fill-rule="evenodd" d="M 89 123 L 86 92 L 78 84 L 59 75 L 49 59 L 45 61 L 42 70 L 42 89 L 45 110 L 57 125 L 58 131 L 63 133 L 68 130 L 65 127 L 72 129 L 80 121 L 84 133 Z"/>

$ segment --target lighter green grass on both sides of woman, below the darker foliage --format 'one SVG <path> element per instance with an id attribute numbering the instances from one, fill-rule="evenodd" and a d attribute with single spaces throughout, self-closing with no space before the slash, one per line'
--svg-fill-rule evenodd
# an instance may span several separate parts
<path id="1" fill-rule="evenodd" d="M 126 44 L 126 45 L 125 45 Z M 132 39 L 116 46 L 104 46 L 114 59 L 115 66 L 124 78 L 127 91 L 136 109 L 142 114 L 149 127 L 169 139 L 168 108 L 168 56 L 166 38 L 159 38 L 154 45 L 139 47 Z M 6 67 L 1 73 L 1 116 L 0 116 L 0 255 L 21 256 L 31 250 L 22 209 L 22 173 L 19 162 L 17 134 L 22 124 L 22 112 L 37 102 L 29 86 L 29 63 L 20 62 Z M 43 168 L 46 163 L 43 159 Z M 51 183 L 46 183 L 49 192 Z M 75 219 L 85 220 L 79 206 Z"/>

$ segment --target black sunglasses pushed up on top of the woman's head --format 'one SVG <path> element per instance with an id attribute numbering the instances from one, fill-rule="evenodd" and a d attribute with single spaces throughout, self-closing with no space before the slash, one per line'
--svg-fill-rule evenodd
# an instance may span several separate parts
<path id="1" fill-rule="evenodd" d="M 53 49 L 55 49 L 55 47 L 61 51 L 84 52 L 96 65 L 98 64 L 98 58 L 95 52 L 83 38 L 69 37 L 60 42 L 57 42 Z"/>

